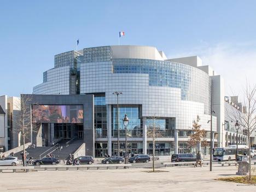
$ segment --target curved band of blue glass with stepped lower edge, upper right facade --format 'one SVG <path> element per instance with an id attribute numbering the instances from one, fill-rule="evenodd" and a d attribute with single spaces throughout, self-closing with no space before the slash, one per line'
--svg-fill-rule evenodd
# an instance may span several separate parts
<path id="1" fill-rule="evenodd" d="M 114 73 L 149 75 L 150 86 L 181 89 L 181 99 L 205 104 L 210 114 L 211 80 L 208 74 L 182 63 L 144 59 L 113 59 Z"/>

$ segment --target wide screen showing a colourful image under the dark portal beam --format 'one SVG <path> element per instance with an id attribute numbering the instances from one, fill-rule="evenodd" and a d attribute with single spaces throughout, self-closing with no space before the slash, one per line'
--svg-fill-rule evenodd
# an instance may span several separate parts
<path id="1" fill-rule="evenodd" d="M 34 104 L 32 119 L 37 123 L 83 123 L 82 105 L 46 106 Z"/>

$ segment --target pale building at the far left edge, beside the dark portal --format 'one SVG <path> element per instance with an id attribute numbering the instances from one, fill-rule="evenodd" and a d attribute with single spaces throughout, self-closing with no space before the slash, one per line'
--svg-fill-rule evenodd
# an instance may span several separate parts
<path id="1" fill-rule="evenodd" d="M 16 114 L 20 110 L 20 98 L 0 96 L 0 106 L 2 108 L 0 117 L 0 147 L 2 149 L 0 150 L 6 151 L 20 146 L 20 134 L 15 131 Z"/>

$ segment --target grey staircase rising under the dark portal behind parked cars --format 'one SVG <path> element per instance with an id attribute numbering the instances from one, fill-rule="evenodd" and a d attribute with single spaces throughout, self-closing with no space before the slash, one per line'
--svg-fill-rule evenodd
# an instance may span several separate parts
<path id="1" fill-rule="evenodd" d="M 84 143 L 83 140 L 75 140 L 75 139 L 72 139 L 72 141 L 62 140 L 58 143 L 59 146 L 62 146 L 61 150 L 55 150 L 57 146 L 54 148 L 52 148 L 52 146 L 51 147 L 35 147 L 34 149 L 27 148 L 26 152 L 29 153 L 27 155 L 27 158 L 32 157 L 33 159 L 39 159 L 39 156 L 42 153 L 44 153 L 44 152 L 46 152 L 46 150 L 49 150 L 50 148 L 52 148 L 51 150 L 49 150 L 47 153 L 44 153 L 43 155 L 51 153 L 57 159 L 60 159 L 60 160 L 65 159 L 66 160 L 68 155 L 74 153 L 83 143 Z M 54 150 L 54 152 L 52 152 L 53 150 Z M 16 153 L 15 156 L 17 156 L 19 159 L 21 159 L 20 152 Z M 41 158 L 43 158 L 43 156 Z"/>

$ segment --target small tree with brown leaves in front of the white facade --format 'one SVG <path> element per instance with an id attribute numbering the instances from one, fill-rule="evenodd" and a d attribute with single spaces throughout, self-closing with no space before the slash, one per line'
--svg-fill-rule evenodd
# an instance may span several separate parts
<path id="1" fill-rule="evenodd" d="M 188 145 L 190 147 L 196 147 L 196 151 L 199 152 L 202 146 L 207 146 L 206 131 L 201 129 L 201 124 L 199 124 L 200 117 L 197 115 L 196 120 L 193 121 L 193 133 L 189 135 Z"/>

